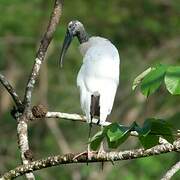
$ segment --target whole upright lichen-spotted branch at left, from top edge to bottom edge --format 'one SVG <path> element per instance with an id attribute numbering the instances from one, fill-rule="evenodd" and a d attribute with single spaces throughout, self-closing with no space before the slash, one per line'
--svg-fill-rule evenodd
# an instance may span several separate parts
<path id="1" fill-rule="evenodd" d="M 49 20 L 47 30 L 41 40 L 39 50 L 36 54 L 34 66 L 26 86 L 25 96 L 23 101 L 23 105 L 25 108 L 24 112 L 23 114 L 17 114 L 17 116 L 15 116 L 18 122 L 17 125 L 18 144 L 21 153 L 21 159 L 24 165 L 27 165 L 31 162 L 31 160 L 29 160 L 26 157 L 26 153 L 29 151 L 27 122 L 30 119 L 29 115 L 31 114 L 30 105 L 31 105 L 32 91 L 34 89 L 36 79 L 39 75 L 41 64 L 45 58 L 47 48 L 52 40 L 53 34 L 59 22 L 61 11 L 62 11 L 62 2 L 60 0 L 55 0 L 54 8 L 52 10 L 52 14 Z M 35 179 L 32 173 L 27 173 L 26 178 L 29 180 Z"/>

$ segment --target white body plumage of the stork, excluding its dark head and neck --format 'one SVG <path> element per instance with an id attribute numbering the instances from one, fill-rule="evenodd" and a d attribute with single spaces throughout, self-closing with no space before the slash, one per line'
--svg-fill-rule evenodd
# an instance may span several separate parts
<path id="1" fill-rule="evenodd" d="M 111 113 L 119 84 L 120 58 L 116 47 L 102 37 L 91 37 L 80 45 L 83 64 L 77 76 L 81 108 L 91 122 L 91 95 L 100 95 L 100 124 Z"/>

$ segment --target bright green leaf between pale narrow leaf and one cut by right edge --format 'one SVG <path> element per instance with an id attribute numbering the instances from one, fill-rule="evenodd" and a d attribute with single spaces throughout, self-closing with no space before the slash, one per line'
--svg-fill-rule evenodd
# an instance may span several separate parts
<path id="1" fill-rule="evenodd" d="M 141 83 L 141 91 L 145 96 L 153 94 L 160 87 L 166 69 L 166 65 L 157 65 L 144 77 Z"/>

